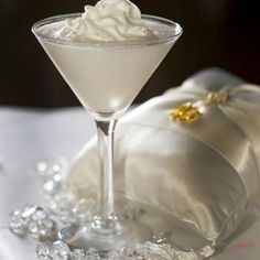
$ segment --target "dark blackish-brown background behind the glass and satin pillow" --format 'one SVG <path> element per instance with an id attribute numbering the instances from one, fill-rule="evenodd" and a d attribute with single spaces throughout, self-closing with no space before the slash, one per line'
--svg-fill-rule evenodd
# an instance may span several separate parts
<path id="1" fill-rule="evenodd" d="M 78 101 L 31 25 L 43 18 L 83 11 L 91 0 L 0 0 L 0 105 L 61 107 Z M 208 66 L 260 84 L 260 15 L 257 1 L 133 0 L 143 13 L 172 19 L 184 34 L 137 98 L 144 101 Z"/>

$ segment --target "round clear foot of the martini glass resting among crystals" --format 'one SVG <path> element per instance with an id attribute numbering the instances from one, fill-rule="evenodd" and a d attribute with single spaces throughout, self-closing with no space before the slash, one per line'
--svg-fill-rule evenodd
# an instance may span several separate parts
<path id="1" fill-rule="evenodd" d="M 98 232 L 91 224 L 63 228 L 58 237 L 74 248 L 95 248 L 102 254 L 137 242 L 151 241 L 152 230 L 138 221 L 120 221 L 120 228 L 112 234 Z"/>

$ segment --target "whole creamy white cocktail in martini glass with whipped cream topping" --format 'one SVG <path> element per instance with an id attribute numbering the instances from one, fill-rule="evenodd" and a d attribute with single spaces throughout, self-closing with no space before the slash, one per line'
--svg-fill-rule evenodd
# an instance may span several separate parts
<path id="1" fill-rule="evenodd" d="M 33 26 L 37 40 L 94 117 L 99 139 L 98 213 L 86 227 L 61 237 L 102 251 L 151 238 L 139 223 L 119 221 L 113 208 L 112 136 L 116 120 L 132 102 L 182 33 L 178 24 L 141 15 L 129 0 L 101 0 L 83 14 L 45 19 Z"/>

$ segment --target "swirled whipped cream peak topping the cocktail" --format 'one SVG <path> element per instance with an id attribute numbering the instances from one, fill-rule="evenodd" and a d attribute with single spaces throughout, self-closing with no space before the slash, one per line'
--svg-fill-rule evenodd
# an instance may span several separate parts
<path id="1" fill-rule="evenodd" d="M 86 6 L 85 13 L 67 20 L 59 36 L 76 41 L 127 41 L 153 37 L 149 22 L 129 0 L 100 0 L 96 6 Z"/>

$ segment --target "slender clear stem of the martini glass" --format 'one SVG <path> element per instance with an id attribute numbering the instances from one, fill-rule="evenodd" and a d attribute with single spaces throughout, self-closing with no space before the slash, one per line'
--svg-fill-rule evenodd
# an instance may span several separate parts
<path id="1" fill-rule="evenodd" d="M 101 234 L 112 234 L 119 227 L 113 198 L 113 132 L 117 120 L 95 120 L 98 136 L 99 176 L 97 216 L 93 227 Z"/>

